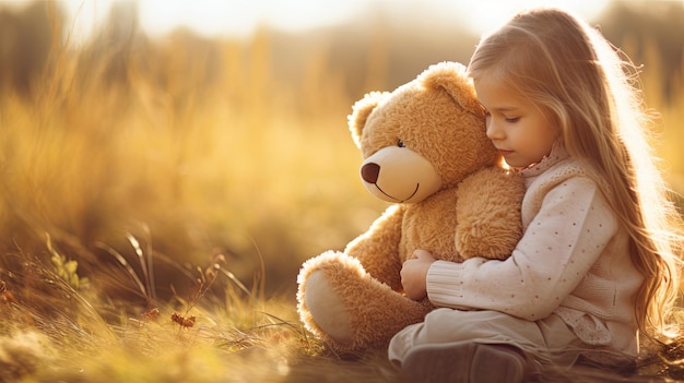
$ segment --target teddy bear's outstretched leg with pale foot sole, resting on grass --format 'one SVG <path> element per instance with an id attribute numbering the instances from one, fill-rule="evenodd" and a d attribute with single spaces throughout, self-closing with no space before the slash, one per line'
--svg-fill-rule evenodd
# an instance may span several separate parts
<path id="1" fill-rule="evenodd" d="M 373 278 L 358 260 L 334 252 L 304 264 L 297 299 L 306 327 L 340 351 L 384 347 L 431 309 Z"/>

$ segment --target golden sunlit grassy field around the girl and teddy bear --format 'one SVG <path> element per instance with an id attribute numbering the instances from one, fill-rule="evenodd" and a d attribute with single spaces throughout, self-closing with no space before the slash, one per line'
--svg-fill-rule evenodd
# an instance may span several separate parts
<path id="1" fill-rule="evenodd" d="M 349 74 L 319 51 L 273 75 L 264 32 L 99 43 L 54 36 L 31 92 L 0 94 L 0 382 L 400 381 L 381 351 L 327 349 L 294 307 L 302 262 L 385 208 L 357 182 Z M 389 71 L 378 55 L 367 72 Z M 682 72 L 646 58 L 683 192 Z"/>

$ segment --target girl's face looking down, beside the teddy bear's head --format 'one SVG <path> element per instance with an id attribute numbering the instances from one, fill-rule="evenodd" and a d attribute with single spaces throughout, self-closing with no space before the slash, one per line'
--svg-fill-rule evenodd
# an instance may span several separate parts
<path id="1" fill-rule="evenodd" d="M 515 89 L 488 79 L 474 81 L 477 98 L 487 117 L 487 137 L 506 164 L 524 168 L 551 152 L 561 129 Z"/>

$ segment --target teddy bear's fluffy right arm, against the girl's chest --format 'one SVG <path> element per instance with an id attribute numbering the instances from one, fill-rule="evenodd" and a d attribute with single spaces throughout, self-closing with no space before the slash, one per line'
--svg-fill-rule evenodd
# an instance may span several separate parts
<path id="1" fill-rule="evenodd" d="M 479 170 L 459 184 L 456 248 L 463 259 L 510 255 L 522 237 L 524 191 L 520 173 L 499 167 Z"/>

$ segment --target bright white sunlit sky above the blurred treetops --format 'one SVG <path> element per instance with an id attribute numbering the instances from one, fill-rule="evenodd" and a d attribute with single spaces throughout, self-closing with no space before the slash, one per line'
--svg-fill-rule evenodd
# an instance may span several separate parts
<path id="1" fill-rule="evenodd" d="M 106 16 L 115 0 L 62 0 L 73 19 L 76 39 L 87 36 Z M 249 35 L 259 25 L 268 24 L 288 31 L 302 31 L 321 25 L 341 23 L 358 15 L 364 9 L 416 9 L 435 12 L 439 17 L 452 17 L 468 23 L 468 27 L 480 34 L 491 31 L 506 21 L 512 13 L 531 7 L 561 7 L 578 13 L 585 19 L 595 17 L 610 0 L 499 0 L 446 1 L 446 0 L 350 0 L 309 1 L 279 0 L 256 1 L 131 1 L 138 7 L 140 23 L 152 35 L 164 34 L 178 26 L 188 26 L 196 32 L 210 35 Z M 636 0 L 639 1 L 639 0 Z M 645 0 L 641 0 L 645 1 Z M 391 13 L 388 11 L 388 13 Z M 421 12 L 424 15 L 426 12 Z"/>

